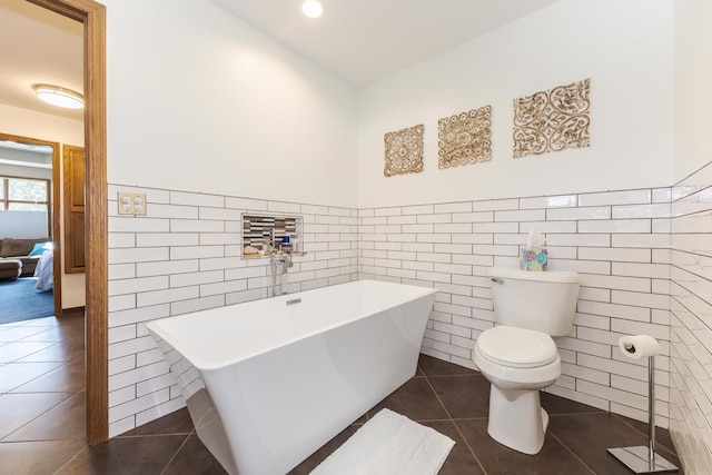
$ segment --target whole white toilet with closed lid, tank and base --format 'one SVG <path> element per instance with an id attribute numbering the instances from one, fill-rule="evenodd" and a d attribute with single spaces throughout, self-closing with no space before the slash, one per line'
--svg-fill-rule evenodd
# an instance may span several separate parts
<path id="1" fill-rule="evenodd" d="M 538 390 L 561 375 L 552 336 L 568 335 L 578 299 L 578 274 L 490 269 L 498 324 L 479 335 L 475 365 L 492 383 L 487 433 L 524 454 L 544 445 L 548 414 Z"/>

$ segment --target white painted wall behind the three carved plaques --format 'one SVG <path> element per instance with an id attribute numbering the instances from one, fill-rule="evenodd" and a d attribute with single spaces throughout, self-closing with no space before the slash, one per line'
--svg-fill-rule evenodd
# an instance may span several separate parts
<path id="1" fill-rule="evenodd" d="M 360 92 L 358 206 L 670 186 L 673 2 L 562 0 Z M 512 158 L 512 101 L 591 78 L 591 147 Z M 493 107 L 493 159 L 437 168 L 437 120 Z M 425 170 L 386 178 L 384 133 L 425 125 Z"/>

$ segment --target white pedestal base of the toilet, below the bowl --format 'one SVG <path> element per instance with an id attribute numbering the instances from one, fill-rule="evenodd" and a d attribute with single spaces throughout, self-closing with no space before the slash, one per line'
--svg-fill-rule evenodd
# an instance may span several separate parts
<path id="1" fill-rule="evenodd" d="M 535 455 L 544 445 L 548 414 L 542 408 L 538 389 L 490 388 L 487 433 L 500 444 Z"/>

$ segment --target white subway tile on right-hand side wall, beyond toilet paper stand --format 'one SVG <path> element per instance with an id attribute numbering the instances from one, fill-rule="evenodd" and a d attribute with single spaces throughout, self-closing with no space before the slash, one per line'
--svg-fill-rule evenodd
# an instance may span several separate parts
<path id="1" fill-rule="evenodd" d="M 712 164 L 672 187 L 670 428 L 685 473 L 712 467 Z"/>

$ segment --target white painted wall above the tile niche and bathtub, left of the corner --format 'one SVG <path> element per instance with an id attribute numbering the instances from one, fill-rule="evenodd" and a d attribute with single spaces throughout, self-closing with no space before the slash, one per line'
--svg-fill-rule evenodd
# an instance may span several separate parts
<path id="1" fill-rule="evenodd" d="M 109 182 L 355 205 L 350 87 L 215 3 L 103 3 Z"/>

